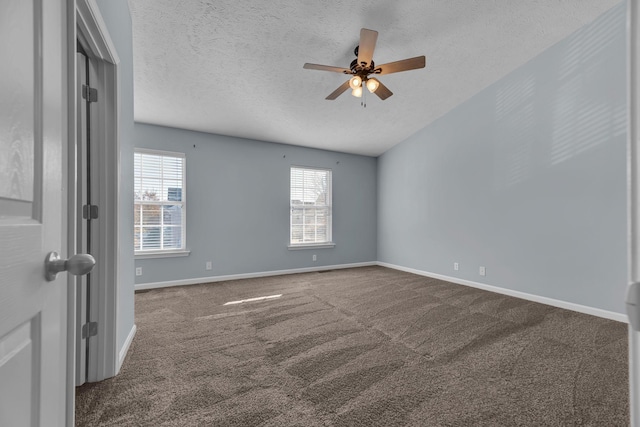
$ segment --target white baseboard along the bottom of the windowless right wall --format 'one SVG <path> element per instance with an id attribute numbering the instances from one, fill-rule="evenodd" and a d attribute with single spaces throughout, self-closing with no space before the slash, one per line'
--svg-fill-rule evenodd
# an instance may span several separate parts
<path id="1" fill-rule="evenodd" d="M 607 311 L 599 308 L 589 307 L 586 305 L 574 304 L 572 302 L 561 301 L 553 298 L 542 297 L 539 295 L 528 294 L 526 292 L 514 291 L 512 289 L 500 288 L 492 285 L 485 285 L 484 283 L 472 282 L 471 280 L 459 279 L 457 277 L 450 277 L 450 276 L 445 276 L 437 273 L 430 273 L 427 271 L 417 270 L 415 268 L 410 268 L 410 267 L 403 267 L 395 264 L 389 264 L 386 262 L 378 261 L 378 265 L 381 267 L 393 268 L 394 270 L 406 271 L 407 273 L 413 273 L 420 276 L 426 276 L 426 277 L 432 277 L 434 279 L 445 280 L 447 282 L 456 283 L 458 285 L 470 286 L 472 288 L 483 289 L 485 291 L 495 292 L 498 294 L 508 295 L 516 298 L 522 298 L 528 301 L 539 302 L 542 304 L 564 308 L 567 310 L 577 311 L 579 313 L 603 317 L 609 320 L 629 323 L 629 319 L 625 314 L 616 313 L 614 311 Z"/>

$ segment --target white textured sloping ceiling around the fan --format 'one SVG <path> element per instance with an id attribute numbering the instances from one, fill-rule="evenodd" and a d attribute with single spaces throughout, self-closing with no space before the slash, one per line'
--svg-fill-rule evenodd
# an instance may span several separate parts
<path id="1" fill-rule="evenodd" d="M 135 120 L 377 156 L 521 66 L 618 0 L 129 0 Z M 381 76 L 385 101 L 345 92 L 360 28 L 377 64 L 426 55 Z"/>

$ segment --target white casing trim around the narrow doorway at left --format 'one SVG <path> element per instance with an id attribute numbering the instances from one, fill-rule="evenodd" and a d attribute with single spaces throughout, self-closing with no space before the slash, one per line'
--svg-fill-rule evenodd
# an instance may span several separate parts
<path id="1" fill-rule="evenodd" d="M 69 75 L 69 112 L 70 134 L 69 140 L 75 142 L 76 116 L 75 116 L 75 50 L 76 40 L 84 45 L 87 54 L 95 63 L 96 88 L 99 92 L 99 101 L 92 108 L 92 116 L 95 114 L 95 123 L 92 131 L 95 132 L 97 151 L 95 156 L 99 161 L 96 174 L 98 186 L 97 204 L 100 207 L 100 221 L 95 225 L 99 245 L 92 251 L 98 263 L 98 268 L 92 277 L 95 279 L 98 289 L 97 298 L 92 298 L 91 311 L 97 313 L 95 320 L 100 325 L 96 340 L 90 343 L 89 381 L 100 381 L 116 374 L 118 363 L 118 190 L 120 188 L 120 59 L 115 45 L 111 40 L 107 25 L 102 19 L 100 8 L 96 0 L 76 0 L 73 11 L 73 36 L 70 37 L 69 63 L 71 64 Z M 73 6 L 70 6 L 73 7 Z M 73 71 L 71 71 L 73 70 Z M 73 121 L 71 121 L 73 120 Z M 69 169 L 75 168 L 71 164 L 72 156 L 69 155 Z M 69 230 L 71 239 L 71 230 Z"/>

